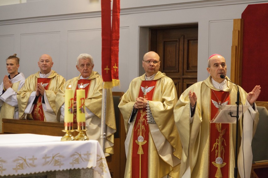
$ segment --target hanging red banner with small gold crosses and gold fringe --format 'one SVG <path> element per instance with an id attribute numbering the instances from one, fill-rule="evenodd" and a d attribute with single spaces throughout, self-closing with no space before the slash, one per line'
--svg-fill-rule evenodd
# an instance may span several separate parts
<path id="1" fill-rule="evenodd" d="M 103 88 L 120 85 L 118 78 L 118 52 L 120 28 L 120 0 L 113 0 L 111 23 L 111 0 L 101 1 L 102 23 L 102 77 Z"/>

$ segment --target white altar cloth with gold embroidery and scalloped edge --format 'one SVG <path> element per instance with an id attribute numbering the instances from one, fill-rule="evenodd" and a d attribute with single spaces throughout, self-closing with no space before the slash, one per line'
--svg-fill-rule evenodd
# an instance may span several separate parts
<path id="1" fill-rule="evenodd" d="M 94 178 L 110 178 L 98 141 L 60 141 L 37 134 L 0 134 L 0 176 L 92 168 Z"/>

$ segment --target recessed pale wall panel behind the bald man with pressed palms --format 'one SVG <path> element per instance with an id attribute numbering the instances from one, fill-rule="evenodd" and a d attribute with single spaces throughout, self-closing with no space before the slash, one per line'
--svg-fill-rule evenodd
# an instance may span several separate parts
<path id="1" fill-rule="evenodd" d="M 58 72 L 60 66 L 60 33 L 31 33 L 20 36 L 20 70 L 27 78 L 33 73 L 40 71 L 38 60 L 42 54 L 48 54 L 53 59 L 52 70 Z"/>

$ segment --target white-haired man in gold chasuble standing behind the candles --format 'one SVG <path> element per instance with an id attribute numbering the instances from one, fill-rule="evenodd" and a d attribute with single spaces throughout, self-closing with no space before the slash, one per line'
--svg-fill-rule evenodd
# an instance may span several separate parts
<path id="1" fill-rule="evenodd" d="M 64 102 L 65 89 L 71 85 L 74 90 L 74 123 L 76 123 L 76 89 L 82 88 L 86 93 L 86 134 L 91 140 L 100 142 L 101 134 L 101 111 L 102 111 L 102 77 L 96 71 L 92 71 L 94 67 L 93 58 L 89 54 L 80 54 L 77 57 L 76 68 L 81 73 L 78 77 L 74 77 L 66 81 L 56 96 L 57 119 L 64 122 Z M 104 143 L 104 154 L 109 156 L 114 154 L 114 133 L 116 131 L 114 102 L 110 89 L 107 89 L 107 107 L 106 107 L 106 140 Z"/>

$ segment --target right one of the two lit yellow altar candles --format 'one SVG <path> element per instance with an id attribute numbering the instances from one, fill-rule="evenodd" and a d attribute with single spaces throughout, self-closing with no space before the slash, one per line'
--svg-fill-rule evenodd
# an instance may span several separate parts
<path id="1" fill-rule="evenodd" d="M 76 108 L 77 124 L 84 125 L 83 123 L 86 122 L 86 114 L 85 114 L 86 108 L 85 108 L 85 90 L 82 88 L 76 90 L 76 107 L 77 107 Z"/>

